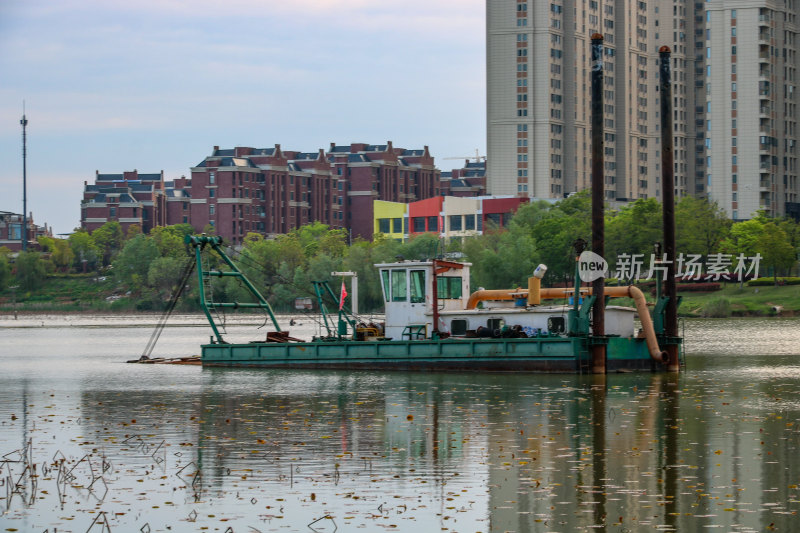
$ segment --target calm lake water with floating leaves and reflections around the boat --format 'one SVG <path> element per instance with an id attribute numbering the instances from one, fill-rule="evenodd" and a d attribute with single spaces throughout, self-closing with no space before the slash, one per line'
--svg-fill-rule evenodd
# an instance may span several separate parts
<path id="1" fill-rule="evenodd" d="M 125 364 L 155 320 L 0 318 L 0 530 L 800 524 L 799 319 L 690 320 L 680 375 L 605 377 Z M 154 355 L 210 333 L 172 323 Z"/>

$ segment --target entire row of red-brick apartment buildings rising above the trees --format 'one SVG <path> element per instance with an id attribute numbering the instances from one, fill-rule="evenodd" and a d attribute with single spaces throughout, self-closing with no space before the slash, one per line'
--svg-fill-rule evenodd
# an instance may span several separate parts
<path id="1" fill-rule="evenodd" d="M 373 200 L 408 203 L 440 194 L 441 173 L 425 146 L 332 143 L 328 152 L 239 146 L 220 149 L 192 167 L 191 177 L 164 181 L 161 174 L 96 173 L 84 183 L 81 225 L 93 231 L 118 220 L 123 231 L 139 224 L 213 226 L 228 242 L 250 233 L 288 233 L 312 222 L 346 228 L 371 239 Z"/>

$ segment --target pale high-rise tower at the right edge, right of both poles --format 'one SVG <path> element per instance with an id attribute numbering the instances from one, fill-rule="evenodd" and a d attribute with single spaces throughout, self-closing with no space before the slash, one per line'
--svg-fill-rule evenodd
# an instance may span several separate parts
<path id="1" fill-rule="evenodd" d="M 734 220 L 798 202 L 798 0 L 711 0 L 709 197 Z"/>

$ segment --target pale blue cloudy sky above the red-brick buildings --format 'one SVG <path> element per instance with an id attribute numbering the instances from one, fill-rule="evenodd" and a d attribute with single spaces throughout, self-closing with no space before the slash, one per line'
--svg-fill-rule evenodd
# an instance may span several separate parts
<path id="1" fill-rule="evenodd" d="M 484 0 L 1 0 L 0 211 L 80 224 L 95 170 L 188 175 L 215 145 L 485 153 Z"/>

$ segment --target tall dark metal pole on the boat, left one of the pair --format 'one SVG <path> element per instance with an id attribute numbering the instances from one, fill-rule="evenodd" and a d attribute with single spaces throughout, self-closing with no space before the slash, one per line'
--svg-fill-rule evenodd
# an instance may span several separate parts
<path id="1" fill-rule="evenodd" d="M 605 177 L 603 175 L 603 36 L 592 35 L 592 251 L 605 255 Z M 605 335 L 605 278 L 592 283 L 592 336 Z M 577 295 L 576 295 L 577 297 Z M 606 346 L 592 344 L 592 372 L 605 374 Z"/>

